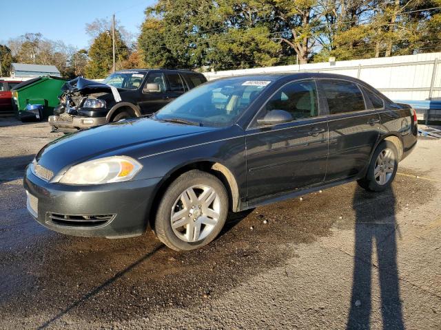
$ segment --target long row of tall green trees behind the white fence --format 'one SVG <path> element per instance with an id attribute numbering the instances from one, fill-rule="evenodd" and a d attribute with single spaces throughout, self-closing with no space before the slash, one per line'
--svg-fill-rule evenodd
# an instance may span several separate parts
<path id="1" fill-rule="evenodd" d="M 152 67 L 227 69 L 440 50 L 441 0 L 158 0 L 139 52 Z"/>

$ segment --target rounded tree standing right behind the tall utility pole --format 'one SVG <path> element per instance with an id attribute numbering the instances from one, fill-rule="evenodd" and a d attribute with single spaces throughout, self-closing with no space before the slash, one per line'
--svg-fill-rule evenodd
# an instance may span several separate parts
<path id="1" fill-rule="evenodd" d="M 89 63 L 85 66 L 85 76 L 92 79 L 105 78 L 112 70 L 112 32 L 101 32 L 94 39 L 88 52 Z M 121 69 L 121 62 L 129 56 L 127 45 L 115 32 L 116 69 Z"/>

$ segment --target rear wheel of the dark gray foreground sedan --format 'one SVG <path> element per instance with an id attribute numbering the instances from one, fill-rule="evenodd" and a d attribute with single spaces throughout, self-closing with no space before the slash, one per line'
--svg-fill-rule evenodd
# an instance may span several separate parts
<path id="1" fill-rule="evenodd" d="M 366 176 L 358 184 L 369 191 L 382 191 L 389 188 L 398 169 L 398 153 L 395 144 L 381 142 L 372 155 Z"/>

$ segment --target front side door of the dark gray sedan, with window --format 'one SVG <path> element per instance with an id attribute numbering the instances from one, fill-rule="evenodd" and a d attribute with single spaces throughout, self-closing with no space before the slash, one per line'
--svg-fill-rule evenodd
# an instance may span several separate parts
<path id="1" fill-rule="evenodd" d="M 325 179 L 328 153 L 327 120 L 318 109 L 314 80 L 281 87 L 258 113 L 278 109 L 292 122 L 247 129 L 247 199 L 320 184 Z"/>

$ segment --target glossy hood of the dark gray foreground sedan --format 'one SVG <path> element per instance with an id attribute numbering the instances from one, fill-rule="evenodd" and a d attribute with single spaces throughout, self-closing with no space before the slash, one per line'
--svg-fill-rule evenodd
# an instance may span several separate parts
<path id="1" fill-rule="evenodd" d="M 218 130 L 212 127 L 137 118 L 65 135 L 47 144 L 36 156 L 41 166 L 59 173 L 74 164 L 111 155 L 142 157 L 176 146 L 187 138 Z"/>

